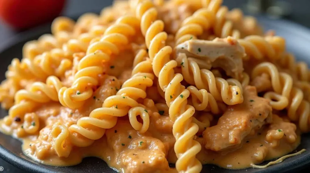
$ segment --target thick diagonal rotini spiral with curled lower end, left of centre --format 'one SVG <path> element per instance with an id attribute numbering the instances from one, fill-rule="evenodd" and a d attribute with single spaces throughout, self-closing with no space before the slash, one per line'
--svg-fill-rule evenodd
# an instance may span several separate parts
<path id="1" fill-rule="evenodd" d="M 137 25 L 137 18 L 123 16 L 105 30 L 100 41 L 88 47 L 86 56 L 78 63 L 72 86 L 63 87 L 58 93 L 63 106 L 76 109 L 92 97 L 93 89 L 90 86 L 98 85 L 98 76 L 105 70 L 102 64 L 108 62 L 112 54 L 119 54 L 121 47 L 129 43 L 129 37 L 135 35 Z"/>

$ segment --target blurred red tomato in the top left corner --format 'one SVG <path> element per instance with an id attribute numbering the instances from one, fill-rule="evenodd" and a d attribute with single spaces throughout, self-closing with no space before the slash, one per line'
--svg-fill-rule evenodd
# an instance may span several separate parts
<path id="1" fill-rule="evenodd" d="M 65 0 L 0 0 L 0 17 L 16 29 L 25 29 L 54 19 Z"/>

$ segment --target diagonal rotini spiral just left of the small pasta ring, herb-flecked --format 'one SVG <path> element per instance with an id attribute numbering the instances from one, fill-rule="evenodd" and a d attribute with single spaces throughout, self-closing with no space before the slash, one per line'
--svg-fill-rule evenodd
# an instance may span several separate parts
<path id="1" fill-rule="evenodd" d="M 116 95 L 104 100 L 101 108 L 91 111 L 88 117 L 78 119 L 77 124 L 69 127 L 70 143 L 78 147 L 86 147 L 94 140 L 100 139 L 105 129 L 115 126 L 117 117 L 125 116 L 130 108 L 140 106 L 137 99 L 145 98 L 145 89 L 152 85 L 152 78 L 139 73 L 126 80 Z"/>

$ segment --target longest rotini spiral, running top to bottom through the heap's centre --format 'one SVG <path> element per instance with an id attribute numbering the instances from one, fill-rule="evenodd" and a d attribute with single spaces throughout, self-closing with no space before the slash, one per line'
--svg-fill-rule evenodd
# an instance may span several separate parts
<path id="1" fill-rule="evenodd" d="M 156 20 L 157 10 L 150 1 L 139 3 L 136 15 L 141 19 L 141 32 L 145 35 L 145 42 L 149 48 L 153 72 L 159 79 L 161 89 L 165 91 L 166 104 L 170 107 L 169 116 L 174 121 L 174 149 L 178 158 L 176 169 L 200 172 L 202 165 L 195 156 L 201 150 L 201 145 L 193 140 L 199 130 L 197 124 L 192 123 L 195 108 L 187 104 L 190 93 L 180 84 L 183 76 L 174 72 L 173 68 L 177 66 L 177 62 L 170 61 L 172 48 L 163 44 L 167 39 L 167 33 L 163 32 L 164 24 L 161 20 Z"/>

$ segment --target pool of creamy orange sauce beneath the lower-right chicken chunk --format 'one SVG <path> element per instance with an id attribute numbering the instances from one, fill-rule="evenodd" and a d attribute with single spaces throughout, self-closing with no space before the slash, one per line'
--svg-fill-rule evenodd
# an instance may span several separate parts
<path id="1" fill-rule="evenodd" d="M 197 158 L 204 164 L 215 164 L 226 169 L 243 169 L 251 167 L 251 164 L 259 164 L 263 161 L 289 154 L 300 144 L 300 134 L 298 132 L 296 136 L 294 136 L 294 134 L 291 134 L 294 132 L 294 129 L 289 128 L 284 130 L 288 127 L 286 122 L 281 120 L 276 121 L 278 121 L 276 129 L 273 125 L 264 126 L 254 135 L 246 137 L 237 149 L 227 149 L 217 152 L 203 149 L 197 155 Z M 289 125 L 293 124 L 290 123 Z M 268 138 L 267 134 L 270 133 L 271 130 L 277 131 L 278 129 L 285 132 L 282 134 L 281 138 L 268 141 L 268 139 L 266 139 Z M 202 141 L 202 138 L 198 138 L 197 140 Z"/>

